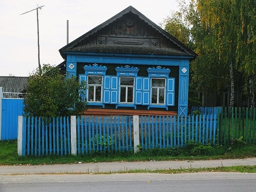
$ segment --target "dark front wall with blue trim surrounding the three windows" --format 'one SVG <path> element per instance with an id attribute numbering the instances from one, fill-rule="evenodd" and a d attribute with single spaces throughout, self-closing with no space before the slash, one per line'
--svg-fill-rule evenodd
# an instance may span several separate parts
<path id="1" fill-rule="evenodd" d="M 187 101 L 188 101 L 188 81 L 189 81 L 189 57 L 186 56 L 150 56 L 150 55 L 134 55 L 134 54 L 98 54 L 98 53 L 67 53 L 67 75 L 79 76 L 84 74 L 83 65 L 85 64 L 98 64 L 106 65 L 108 70 L 106 75 L 116 75 L 114 70 L 117 66 L 129 65 L 138 67 L 138 76 L 148 77 L 147 68 L 149 67 L 165 67 L 170 68 L 171 72 L 168 77 L 175 78 L 175 102 L 173 105 L 165 106 L 166 110 L 177 110 L 179 115 L 187 114 Z M 170 93 L 171 94 L 171 93 Z M 90 103 L 91 106 L 97 104 Z M 118 105 L 118 103 L 117 103 Z M 100 105 L 101 106 L 101 105 Z M 113 106 L 106 107 L 113 108 Z M 117 107 L 117 106 L 116 106 Z M 119 105 L 118 107 L 128 107 Z M 139 106 L 139 109 L 145 109 L 145 106 Z M 103 105 L 105 108 L 105 105 Z M 151 109 L 150 108 L 147 109 Z M 162 106 L 156 106 L 162 108 Z M 152 108 L 153 109 L 153 108 Z M 153 109 L 154 110 L 154 109 Z M 161 109 L 157 109 L 161 110 Z"/>

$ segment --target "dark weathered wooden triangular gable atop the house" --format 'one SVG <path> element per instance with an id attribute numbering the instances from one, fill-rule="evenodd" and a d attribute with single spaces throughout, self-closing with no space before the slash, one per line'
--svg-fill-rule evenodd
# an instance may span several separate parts
<path id="1" fill-rule="evenodd" d="M 195 56 L 195 53 L 133 7 L 128 7 L 61 48 L 93 53 Z"/>

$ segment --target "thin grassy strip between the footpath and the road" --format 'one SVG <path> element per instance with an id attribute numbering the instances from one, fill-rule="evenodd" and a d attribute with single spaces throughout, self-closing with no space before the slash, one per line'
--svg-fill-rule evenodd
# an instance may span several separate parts
<path id="1" fill-rule="evenodd" d="M 157 173 L 157 174 L 178 174 L 178 173 L 206 173 L 206 172 L 233 172 L 233 173 L 256 173 L 256 165 L 239 165 L 231 167 L 203 167 L 203 168 L 179 168 L 179 169 L 136 169 L 129 170 L 128 167 L 124 167 L 124 170 L 100 172 L 99 167 L 95 167 L 93 171 L 87 170 L 86 172 L 61 172 L 61 173 L 15 173 L 15 174 L 3 174 L 3 175 L 110 175 L 110 174 L 122 174 L 122 173 Z"/>

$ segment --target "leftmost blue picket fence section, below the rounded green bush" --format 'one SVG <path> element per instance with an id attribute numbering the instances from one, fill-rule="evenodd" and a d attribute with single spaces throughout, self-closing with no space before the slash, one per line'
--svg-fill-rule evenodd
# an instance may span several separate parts
<path id="1" fill-rule="evenodd" d="M 70 155 L 69 117 L 23 117 L 22 155 Z"/>

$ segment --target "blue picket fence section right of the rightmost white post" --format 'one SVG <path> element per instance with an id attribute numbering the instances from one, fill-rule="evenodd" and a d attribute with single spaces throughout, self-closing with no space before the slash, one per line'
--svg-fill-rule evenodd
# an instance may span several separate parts
<path id="1" fill-rule="evenodd" d="M 141 146 L 143 149 L 182 147 L 187 141 L 216 143 L 217 116 L 140 117 Z"/>

